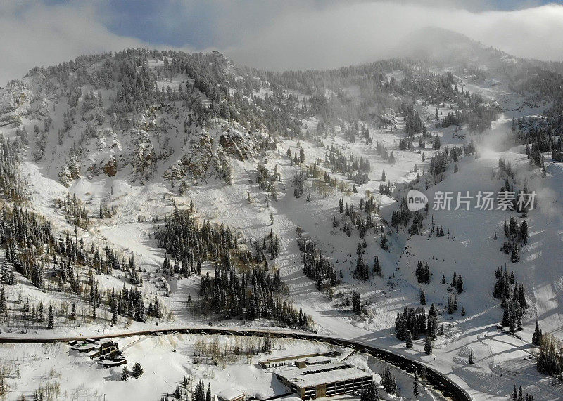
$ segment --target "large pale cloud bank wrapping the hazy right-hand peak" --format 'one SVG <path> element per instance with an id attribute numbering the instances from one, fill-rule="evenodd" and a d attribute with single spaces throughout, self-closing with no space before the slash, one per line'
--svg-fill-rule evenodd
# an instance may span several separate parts
<path id="1" fill-rule="evenodd" d="M 513 55 L 563 60 L 561 5 L 474 12 L 439 4 L 372 2 L 300 9 L 248 32 L 225 53 L 240 63 L 273 70 L 339 67 L 391 56 L 406 34 L 436 26 Z"/>

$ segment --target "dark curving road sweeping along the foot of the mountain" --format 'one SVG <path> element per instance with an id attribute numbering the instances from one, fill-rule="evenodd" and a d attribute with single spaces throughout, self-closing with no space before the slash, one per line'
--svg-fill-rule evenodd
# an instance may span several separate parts
<path id="1" fill-rule="evenodd" d="M 308 341 L 322 341 L 336 346 L 344 346 L 353 348 L 362 353 L 367 353 L 380 360 L 384 360 L 394 366 L 404 370 L 405 372 L 414 372 L 415 369 L 420 371 L 422 367 L 426 367 L 426 380 L 430 386 L 439 390 L 445 397 L 450 397 L 452 400 L 470 401 L 472 397 L 458 386 L 456 383 L 448 379 L 436 369 L 433 369 L 421 362 L 413 361 L 402 355 L 391 353 L 391 351 L 383 350 L 374 346 L 369 346 L 358 341 L 347 340 L 344 338 L 337 338 L 332 336 L 321 336 L 319 334 L 296 333 L 295 331 L 282 331 L 282 330 L 262 330 L 262 329 L 236 329 L 236 328 L 218 328 L 218 327 L 189 327 L 178 329 L 160 329 L 160 330 L 141 330 L 130 331 L 121 334 L 103 334 L 98 336 L 87 337 L 51 337 L 51 338 L 25 338 L 25 337 L 5 337 L 0 336 L 0 343 L 56 343 L 67 342 L 71 340 L 84 340 L 85 338 L 104 339 L 116 337 L 132 337 L 132 336 L 156 336 L 160 334 L 223 334 L 223 335 L 236 335 L 236 336 L 271 336 L 276 338 L 296 338 Z"/>

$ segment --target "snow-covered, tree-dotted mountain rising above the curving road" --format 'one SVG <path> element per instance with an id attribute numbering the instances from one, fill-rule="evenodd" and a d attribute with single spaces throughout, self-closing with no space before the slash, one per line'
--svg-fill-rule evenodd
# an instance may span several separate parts
<path id="1" fill-rule="evenodd" d="M 2 332 L 44 335 L 39 317 L 22 317 L 26 302 L 53 306 L 54 331 L 81 334 L 209 321 L 305 329 L 304 314 L 309 329 L 427 362 L 477 399 L 515 382 L 557 399 L 529 355 L 536 320 L 544 334 L 563 327 L 559 67 L 436 29 L 401 52 L 277 73 L 217 52 L 130 49 L 1 88 L 2 202 L 49 221 L 22 230 L 32 218 L 4 213 Z M 426 210 L 407 209 L 413 188 Z M 505 190 L 535 191 L 536 206 L 474 207 L 479 191 Z M 450 192 L 450 210 L 434 210 Z M 456 209 L 458 193 L 472 196 L 469 210 Z M 499 267 L 513 273 L 504 300 Z M 134 312 L 115 301 L 122 288 Z M 426 317 L 431 304 L 426 355 L 426 321 L 397 316 Z M 396 338 L 407 328 L 421 330 L 412 348 Z"/>

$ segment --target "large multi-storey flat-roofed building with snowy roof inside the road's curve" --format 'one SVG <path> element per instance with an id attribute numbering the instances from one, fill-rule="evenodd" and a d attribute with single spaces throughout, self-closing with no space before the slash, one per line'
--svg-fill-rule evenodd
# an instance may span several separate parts
<path id="1" fill-rule="evenodd" d="M 274 372 L 301 400 L 360 392 L 373 380 L 371 372 L 345 363 L 318 364 Z"/>

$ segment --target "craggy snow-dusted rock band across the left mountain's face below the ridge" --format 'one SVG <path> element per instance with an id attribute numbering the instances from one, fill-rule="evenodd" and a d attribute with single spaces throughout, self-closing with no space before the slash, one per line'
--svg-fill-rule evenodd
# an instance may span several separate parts
<path id="1" fill-rule="evenodd" d="M 37 72 L 1 88 L 0 126 L 27 124 L 22 140 L 29 140 L 36 162 L 58 171 L 65 186 L 82 176 L 96 180 L 118 173 L 146 183 L 157 171 L 184 188 L 210 178 L 230 183 L 232 163 L 253 159 L 273 143 L 235 121 L 194 122 L 189 110 L 174 104 L 147 104 L 118 116 L 108 108 L 115 103 L 112 91 L 76 88 L 69 95 L 52 84 Z M 61 114 L 63 121 L 50 117 Z"/>

